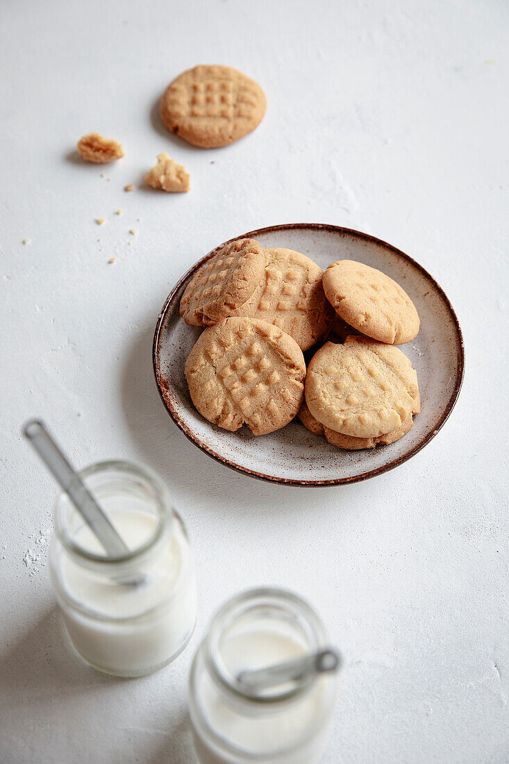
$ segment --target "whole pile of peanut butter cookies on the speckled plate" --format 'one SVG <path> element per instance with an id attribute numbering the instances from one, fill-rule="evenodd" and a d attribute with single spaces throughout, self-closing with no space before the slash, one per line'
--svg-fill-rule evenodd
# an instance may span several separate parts
<path id="1" fill-rule="evenodd" d="M 419 316 L 379 270 L 339 261 L 323 273 L 299 252 L 241 239 L 196 270 L 180 315 L 205 328 L 186 380 L 219 427 L 265 435 L 298 413 L 339 448 L 372 448 L 399 439 L 419 413 L 417 374 L 396 347 L 417 335 Z"/>

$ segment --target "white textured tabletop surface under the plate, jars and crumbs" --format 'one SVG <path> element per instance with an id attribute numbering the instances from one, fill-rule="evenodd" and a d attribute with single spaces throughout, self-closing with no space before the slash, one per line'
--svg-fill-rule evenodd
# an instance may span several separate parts
<path id="1" fill-rule="evenodd" d="M 263 583 L 309 597 L 344 652 L 324 764 L 507 762 L 508 23 L 500 0 L 3 4 L 2 762 L 191 762 L 193 649 L 225 597 Z M 195 63 L 261 83 L 254 134 L 202 151 L 154 125 L 158 96 Z M 73 160 L 89 130 L 121 140 L 125 159 Z M 139 186 L 160 151 L 190 171 L 189 194 Z M 407 251 L 465 334 L 443 431 L 341 489 L 221 468 L 173 426 L 152 378 L 154 322 L 183 270 L 242 231 L 302 220 Z M 61 636 L 46 567 L 55 487 L 19 436 L 34 414 L 76 465 L 135 458 L 173 490 L 200 612 L 157 675 L 99 675 Z"/>

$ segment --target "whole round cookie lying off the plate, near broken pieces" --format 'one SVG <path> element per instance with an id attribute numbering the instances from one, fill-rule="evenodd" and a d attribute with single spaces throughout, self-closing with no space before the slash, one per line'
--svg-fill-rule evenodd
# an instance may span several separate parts
<path id="1" fill-rule="evenodd" d="M 160 101 L 165 128 L 202 148 L 228 146 L 256 128 L 267 101 L 258 83 L 230 66 L 195 66 Z"/>

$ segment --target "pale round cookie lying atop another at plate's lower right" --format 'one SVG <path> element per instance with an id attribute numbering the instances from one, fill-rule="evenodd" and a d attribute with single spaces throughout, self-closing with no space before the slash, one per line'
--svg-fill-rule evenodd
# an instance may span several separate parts
<path id="1" fill-rule="evenodd" d="M 407 356 L 367 337 L 326 342 L 307 367 L 306 403 L 329 429 L 378 438 L 400 427 L 416 406 L 417 374 Z"/>

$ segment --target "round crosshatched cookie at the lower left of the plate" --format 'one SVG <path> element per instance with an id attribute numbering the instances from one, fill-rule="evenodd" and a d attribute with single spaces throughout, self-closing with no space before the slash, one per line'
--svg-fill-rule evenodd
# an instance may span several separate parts
<path id="1" fill-rule="evenodd" d="M 244 422 L 254 435 L 287 425 L 300 409 L 305 377 L 295 340 L 277 326 L 244 317 L 206 329 L 186 361 L 196 409 L 231 432 Z"/>

